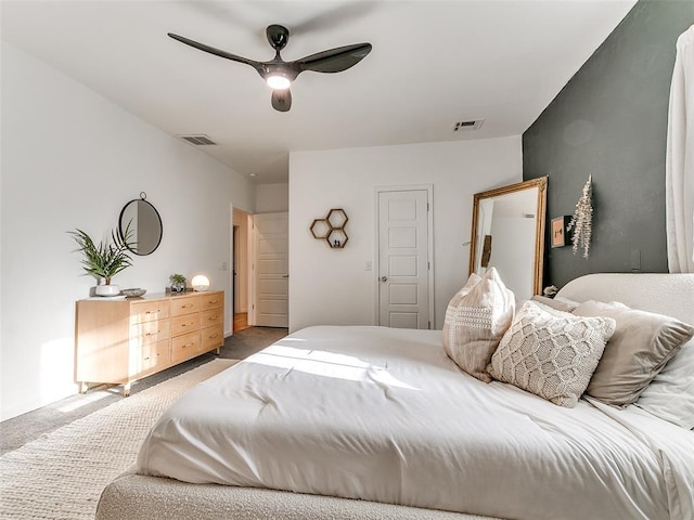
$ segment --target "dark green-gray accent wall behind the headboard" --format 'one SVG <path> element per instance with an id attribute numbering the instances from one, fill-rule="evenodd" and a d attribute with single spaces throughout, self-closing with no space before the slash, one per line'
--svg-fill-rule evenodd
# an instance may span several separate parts
<path id="1" fill-rule="evenodd" d="M 523 177 L 549 176 L 551 219 L 593 177 L 590 257 L 545 244 L 544 286 L 600 272 L 667 272 L 665 152 L 679 35 L 694 0 L 641 0 L 523 134 Z"/>

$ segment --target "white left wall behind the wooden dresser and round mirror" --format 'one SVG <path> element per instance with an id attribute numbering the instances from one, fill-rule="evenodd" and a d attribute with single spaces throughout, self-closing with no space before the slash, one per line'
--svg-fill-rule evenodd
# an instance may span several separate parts
<path id="1" fill-rule="evenodd" d="M 207 274 L 231 304 L 230 207 L 254 210 L 254 186 L 81 83 L 2 44 L 1 417 L 74 393 L 75 300 L 93 278 L 65 233 L 101 238 L 140 192 L 164 236 L 114 278 L 162 292 L 168 276 Z M 228 307 L 229 308 L 229 307 Z M 231 329 L 227 320 L 226 330 Z"/>

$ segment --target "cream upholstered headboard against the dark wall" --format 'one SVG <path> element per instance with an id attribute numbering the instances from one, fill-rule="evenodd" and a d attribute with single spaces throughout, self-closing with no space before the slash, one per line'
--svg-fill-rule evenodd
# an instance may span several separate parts
<path id="1" fill-rule="evenodd" d="M 619 301 L 694 324 L 694 274 L 587 274 L 570 281 L 557 296 L 575 301 Z"/>

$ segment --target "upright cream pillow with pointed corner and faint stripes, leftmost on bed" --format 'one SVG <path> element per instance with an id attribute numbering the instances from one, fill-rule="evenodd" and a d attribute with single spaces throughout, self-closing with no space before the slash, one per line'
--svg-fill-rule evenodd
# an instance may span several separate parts
<path id="1" fill-rule="evenodd" d="M 444 348 L 448 356 L 471 376 L 490 382 L 487 365 L 514 310 L 513 292 L 494 268 L 489 268 L 481 278 L 471 275 L 446 311 Z"/>

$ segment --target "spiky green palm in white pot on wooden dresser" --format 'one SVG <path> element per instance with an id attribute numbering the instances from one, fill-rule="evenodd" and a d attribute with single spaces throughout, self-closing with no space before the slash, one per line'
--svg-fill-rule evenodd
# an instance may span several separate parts
<path id="1" fill-rule="evenodd" d="M 120 292 L 117 285 L 111 283 L 112 278 L 126 268 L 132 265 L 132 258 L 129 255 L 133 246 L 131 240 L 133 232 L 130 225 L 126 227 L 124 234 L 117 230 L 111 231 L 111 240 L 101 240 L 99 245 L 80 229 L 68 231 L 75 239 L 79 251 L 83 255 L 82 269 L 98 280 L 95 294 L 98 296 L 116 296 Z"/>

